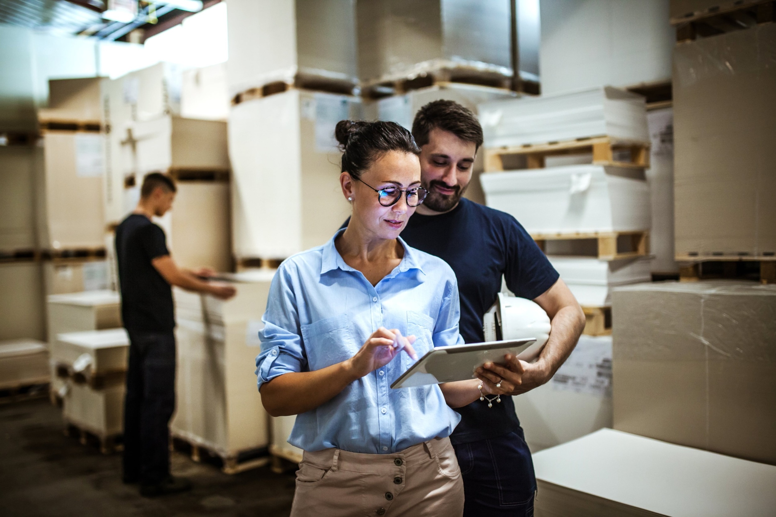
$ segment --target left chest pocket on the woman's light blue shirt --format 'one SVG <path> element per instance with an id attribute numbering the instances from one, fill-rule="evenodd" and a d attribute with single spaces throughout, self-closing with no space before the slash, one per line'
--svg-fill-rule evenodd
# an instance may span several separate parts
<path id="1" fill-rule="evenodd" d="M 302 326 L 302 339 L 310 371 L 341 363 L 359 351 L 346 314 L 319 319 Z"/>

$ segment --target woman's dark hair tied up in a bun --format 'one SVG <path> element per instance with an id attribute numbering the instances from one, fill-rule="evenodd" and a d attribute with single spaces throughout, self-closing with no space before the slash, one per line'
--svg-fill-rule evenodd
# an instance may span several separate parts
<path id="1" fill-rule="evenodd" d="M 396 122 L 337 122 L 334 136 L 342 150 L 342 172 L 359 179 L 379 157 L 389 151 L 420 154 L 421 149 L 412 138 L 412 133 Z"/>

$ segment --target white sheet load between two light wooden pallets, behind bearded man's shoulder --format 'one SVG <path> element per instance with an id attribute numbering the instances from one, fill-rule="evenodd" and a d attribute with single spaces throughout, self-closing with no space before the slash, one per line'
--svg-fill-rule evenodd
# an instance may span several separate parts
<path id="1" fill-rule="evenodd" d="M 643 171 L 573 165 L 480 176 L 487 205 L 514 215 L 532 234 L 601 233 L 650 228 Z"/>

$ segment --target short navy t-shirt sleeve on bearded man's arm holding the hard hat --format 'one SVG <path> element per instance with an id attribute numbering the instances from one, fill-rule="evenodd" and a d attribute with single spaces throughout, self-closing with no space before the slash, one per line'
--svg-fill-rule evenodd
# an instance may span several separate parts
<path id="1" fill-rule="evenodd" d="M 504 280 L 515 295 L 532 300 L 553 287 L 559 274 L 521 224 L 510 217 L 507 223 L 507 267 Z"/>

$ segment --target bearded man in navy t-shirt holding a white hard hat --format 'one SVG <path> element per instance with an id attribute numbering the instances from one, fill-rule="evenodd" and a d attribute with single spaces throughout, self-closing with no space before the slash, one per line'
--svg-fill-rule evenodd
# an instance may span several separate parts
<path id="1" fill-rule="evenodd" d="M 421 181 L 428 195 L 402 239 L 441 257 L 455 271 L 466 343 L 484 340 L 483 315 L 501 291 L 502 276 L 510 291 L 547 312 L 552 333 L 539 360 L 528 364 L 510 357 L 508 368 L 483 371 L 491 381 L 510 383 L 511 395 L 545 384 L 584 329 L 580 305 L 514 217 L 462 198 L 483 143 L 475 115 L 456 102 L 430 102 L 417 112 L 412 134 L 421 147 Z M 463 475 L 464 517 L 533 515 L 533 463 L 512 398 L 492 408 L 475 401 L 456 411 L 462 419 L 450 439 Z"/>

